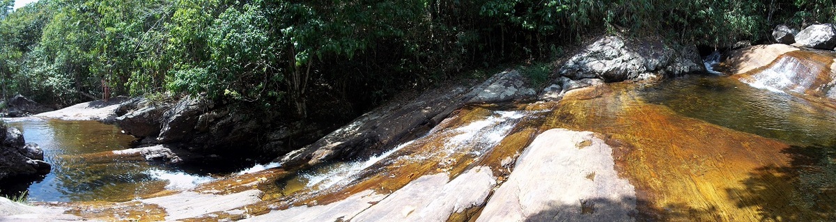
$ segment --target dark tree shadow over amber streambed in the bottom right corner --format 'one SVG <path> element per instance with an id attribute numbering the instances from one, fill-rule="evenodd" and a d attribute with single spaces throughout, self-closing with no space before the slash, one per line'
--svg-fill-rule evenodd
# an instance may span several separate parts
<path id="1" fill-rule="evenodd" d="M 761 221 L 836 219 L 836 148 L 793 146 L 782 151 L 789 166 L 764 166 L 727 189 L 740 208 L 756 208 Z"/>

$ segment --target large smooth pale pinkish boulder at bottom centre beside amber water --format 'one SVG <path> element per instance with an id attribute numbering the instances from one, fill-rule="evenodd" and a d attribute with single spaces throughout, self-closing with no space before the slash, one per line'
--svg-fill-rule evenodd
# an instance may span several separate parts
<path id="1" fill-rule="evenodd" d="M 517 159 L 477 221 L 633 221 L 635 188 L 590 132 L 550 129 Z"/>

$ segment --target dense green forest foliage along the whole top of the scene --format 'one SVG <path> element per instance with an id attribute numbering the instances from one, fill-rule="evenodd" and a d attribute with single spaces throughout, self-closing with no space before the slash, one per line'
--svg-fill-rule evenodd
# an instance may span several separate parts
<path id="1" fill-rule="evenodd" d="M 552 59 L 594 33 L 723 47 L 787 23 L 836 21 L 829 0 L 0 0 L 3 96 L 74 103 L 206 94 L 307 115 L 368 105 L 496 63 Z"/>

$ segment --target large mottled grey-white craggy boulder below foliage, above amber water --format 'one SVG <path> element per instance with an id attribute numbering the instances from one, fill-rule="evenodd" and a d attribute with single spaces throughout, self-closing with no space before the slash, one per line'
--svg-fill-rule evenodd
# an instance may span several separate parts
<path id="1" fill-rule="evenodd" d="M 589 44 L 558 70 L 572 79 L 600 78 L 605 82 L 653 79 L 704 71 L 694 47 L 661 41 L 607 36 Z"/>

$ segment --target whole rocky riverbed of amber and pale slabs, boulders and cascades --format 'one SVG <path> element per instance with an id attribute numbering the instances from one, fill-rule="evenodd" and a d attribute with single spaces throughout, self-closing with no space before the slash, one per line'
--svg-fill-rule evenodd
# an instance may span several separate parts
<path id="1" fill-rule="evenodd" d="M 647 48 L 659 50 L 648 53 Z M 833 162 L 828 158 L 836 144 L 828 138 L 836 138 L 836 109 L 806 98 L 827 97 L 829 89 L 796 83 L 812 89 L 795 95 L 742 83 L 762 80 L 753 72 L 766 72 L 778 58 L 798 49 L 755 46 L 732 53 L 723 64 L 732 77 L 695 74 L 704 68 L 694 50 L 604 37 L 558 65 L 546 88 L 535 88 L 522 73 L 509 69 L 482 83 L 451 83 L 395 100 L 301 149 L 282 152 L 271 164 L 192 189 L 166 189 L 130 201 L 6 204 L 20 211 L 3 212 L 21 213 L 0 216 L 148 221 L 834 219 L 828 184 L 836 177 L 828 173 Z M 798 56 L 799 61 L 808 58 Z M 789 81 L 811 73 L 818 79 L 817 72 L 798 70 L 824 67 L 797 64 L 772 72 L 798 76 Z M 627 81 L 608 83 L 619 80 Z M 189 141 L 219 134 L 230 134 L 235 141 L 236 135 L 260 125 L 235 121 L 222 104 L 196 98 L 159 105 L 166 111 L 157 106 L 135 100 L 109 112 L 145 144 L 162 145 L 89 158 L 125 155 L 174 162 L 182 159 L 176 149 L 200 153 L 217 144 L 198 143 L 199 148 L 190 149 Z M 241 125 L 225 127 L 229 123 Z M 810 129 L 818 133 L 809 134 Z M 53 213 L 29 213 L 37 210 Z"/>

